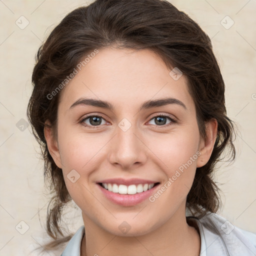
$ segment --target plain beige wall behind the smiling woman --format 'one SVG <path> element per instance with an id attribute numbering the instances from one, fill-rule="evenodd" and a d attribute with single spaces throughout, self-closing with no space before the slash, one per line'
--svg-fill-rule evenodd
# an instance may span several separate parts
<path id="1" fill-rule="evenodd" d="M 196 20 L 212 38 L 226 83 L 227 112 L 240 128 L 235 162 L 229 166 L 221 164 L 216 172 L 216 179 L 223 183 L 220 188 L 224 206 L 219 214 L 243 229 L 256 232 L 256 0 L 171 2 Z M 86 3 L 0 0 L 1 255 L 28 255 L 27 250 L 46 238 L 44 226 L 49 196 L 43 188 L 42 161 L 30 127 L 24 126 L 21 131 L 20 125 L 25 122 L 20 119 L 26 120 L 37 48 L 64 15 L 81 4 Z M 21 15 L 29 21 L 24 29 L 15 23 Z M 225 22 L 229 26 L 232 22 L 224 18 L 226 15 L 234 21 L 229 29 L 222 25 Z M 67 216 L 71 217 L 70 231 L 82 225 L 79 210 L 71 209 Z M 28 230 L 20 234 L 26 225 Z"/>

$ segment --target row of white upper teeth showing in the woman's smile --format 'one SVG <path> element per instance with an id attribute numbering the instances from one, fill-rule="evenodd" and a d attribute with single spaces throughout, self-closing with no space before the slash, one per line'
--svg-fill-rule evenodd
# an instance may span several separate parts
<path id="1" fill-rule="evenodd" d="M 146 191 L 152 188 L 154 183 L 150 184 L 138 184 L 138 185 L 117 185 L 111 183 L 102 183 L 102 186 L 107 189 L 108 191 L 119 193 L 119 194 L 135 194 Z"/>

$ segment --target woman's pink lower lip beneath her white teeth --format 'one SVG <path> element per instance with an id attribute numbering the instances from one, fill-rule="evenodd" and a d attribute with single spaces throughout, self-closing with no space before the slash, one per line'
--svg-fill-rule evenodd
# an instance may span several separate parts
<path id="1" fill-rule="evenodd" d="M 152 187 L 149 190 L 136 193 L 136 194 L 114 193 L 103 188 L 100 184 L 97 184 L 97 186 L 106 196 L 106 198 L 108 198 L 111 202 L 120 204 L 123 206 L 133 206 L 144 201 L 146 198 L 148 198 L 154 192 L 154 190 L 159 186 L 159 184 L 156 184 L 154 187 Z"/>

